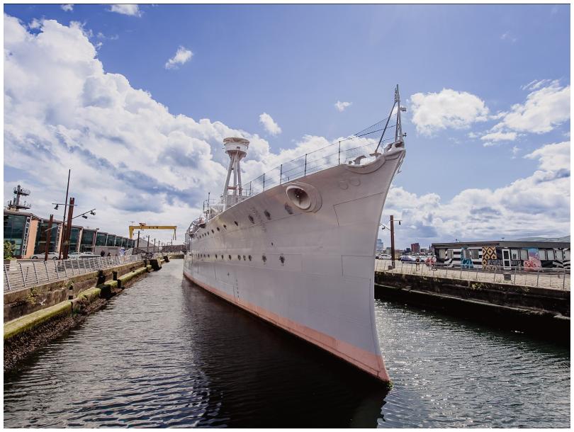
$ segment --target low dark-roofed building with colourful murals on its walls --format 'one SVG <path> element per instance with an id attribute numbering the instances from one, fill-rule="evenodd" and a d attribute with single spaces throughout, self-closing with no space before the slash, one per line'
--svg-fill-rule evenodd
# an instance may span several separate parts
<path id="1" fill-rule="evenodd" d="M 456 241 L 431 245 L 437 263 L 463 268 L 570 268 L 568 241 Z"/>

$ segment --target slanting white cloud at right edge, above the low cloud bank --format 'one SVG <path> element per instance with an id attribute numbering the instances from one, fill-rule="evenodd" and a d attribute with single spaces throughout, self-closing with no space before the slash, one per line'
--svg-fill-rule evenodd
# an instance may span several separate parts
<path id="1" fill-rule="evenodd" d="M 542 84 L 541 84 L 542 83 Z M 542 85 L 542 87 L 541 87 Z M 558 81 L 531 82 L 524 87 L 534 89 L 525 103 L 517 103 L 493 130 L 544 133 L 570 119 L 570 86 Z"/>

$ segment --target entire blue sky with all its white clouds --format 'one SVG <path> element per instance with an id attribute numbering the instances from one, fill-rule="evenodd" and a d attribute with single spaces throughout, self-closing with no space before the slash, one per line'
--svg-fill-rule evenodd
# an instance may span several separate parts
<path id="1" fill-rule="evenodd" d="M 223 138 L 249 180 L 385 118 L 396 84 L 399 247 L 570 234 L 569 5 L 4 5 L 4 201 L 47 217 L 72 169 L 84 224 L 183 239 Z"/>

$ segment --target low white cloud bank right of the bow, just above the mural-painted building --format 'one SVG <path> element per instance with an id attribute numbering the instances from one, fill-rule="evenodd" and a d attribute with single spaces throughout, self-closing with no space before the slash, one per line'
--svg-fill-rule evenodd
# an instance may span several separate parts
<path id="1" fill-rule="evenodd" d="M 398 244 L 570 233 L 570 142 L 546 144 L 525 157 L 538 161 L 530 176 L 496 189 L 479 183 L 447 202 L 436 193 L 391 188 L 383 215 L 403 220 L 395 229 Z"/>

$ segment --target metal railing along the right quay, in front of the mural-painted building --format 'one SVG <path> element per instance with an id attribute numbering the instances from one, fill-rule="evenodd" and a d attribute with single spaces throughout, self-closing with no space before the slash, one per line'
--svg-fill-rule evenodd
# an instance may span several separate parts
<path id="1" fill-rule="evenodd" d="M 390 260 L 376 260 L 375 271 L 570 290 L 570 268 L 529 268 L 528 270 L 522 267 L 509 269 L 500 266 L 468 268 L 448 266 L 443 263 L 421 262 L 417 264 L 412 261 L 395 261 L 395 268 L 392 268 L 391 264 Z"/>

